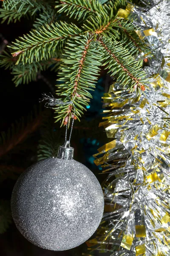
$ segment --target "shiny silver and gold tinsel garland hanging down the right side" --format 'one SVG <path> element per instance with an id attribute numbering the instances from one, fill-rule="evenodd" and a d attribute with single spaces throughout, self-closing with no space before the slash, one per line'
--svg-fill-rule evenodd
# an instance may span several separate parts
<path id="1" fill-rule="evenodd" d="M 142 2 L 127 10 L 150 49 L 137 56 L 148 63 L 150 84 L 139 96 L 111 85 L 100 126 L 114 140 L 95 155 L 109 176 L 102 236 L 90 243 L 112 256 L 170 255 L 170 1 Z"/>

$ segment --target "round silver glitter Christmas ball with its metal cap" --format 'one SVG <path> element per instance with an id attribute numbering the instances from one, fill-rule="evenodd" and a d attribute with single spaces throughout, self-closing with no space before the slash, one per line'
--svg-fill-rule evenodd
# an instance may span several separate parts
<path id="1" fill-rule="evenodd" d="M 31 243 L 68 250 L 88 240 L 102 219 L 104 198 L 94 174 L 72 159 L 73 148 L 59 147 L 59 158 L 29 167 L 14 186 L 14 222 Z"/>

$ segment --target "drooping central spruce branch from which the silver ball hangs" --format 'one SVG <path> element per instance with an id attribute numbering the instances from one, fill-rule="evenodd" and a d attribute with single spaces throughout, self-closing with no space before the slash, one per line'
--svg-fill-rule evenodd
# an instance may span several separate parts
<path id="1" fill-rule="evenodd" d="M 95 88 L 102 61 L 101 47 L 93 40 L 94 37 L 87 33 L 68 41 L 58 79 L 62 84 L 58 85 L 57 95 L 64 97 L 64 102 L 70 98 L 72 104 L 55 108 L 56 122 L 62 119 L 62 124 L 66 125 L 71 118 L 79 119 L 86 110 L 83 105 L 88 105 L 91 98 L 88 90 Z"/>

